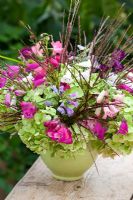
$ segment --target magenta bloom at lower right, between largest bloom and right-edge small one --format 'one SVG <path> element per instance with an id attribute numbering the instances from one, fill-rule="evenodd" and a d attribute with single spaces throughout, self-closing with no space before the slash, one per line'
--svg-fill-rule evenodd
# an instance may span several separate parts
<path id="1" fill-rule="evenodd" d="M 94 134 L 98 137 L 99 140 L 103 140 L 107 129 L 102 126 L 100 122 L 96 122 L 94 126 Z"/>

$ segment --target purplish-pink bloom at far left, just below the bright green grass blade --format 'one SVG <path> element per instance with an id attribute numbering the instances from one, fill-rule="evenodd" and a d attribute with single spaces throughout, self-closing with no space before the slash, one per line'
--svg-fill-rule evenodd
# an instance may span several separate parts
<path id="1" fill-rule="evenodd" d="M 19 71 L 20 71 L 19 66 L 10 65 L 10 66 L 8 66 L 6 73 L 7 73 L 7 76 L 9 76 L 11 79 L 13 79 L 18 76 Z"/>

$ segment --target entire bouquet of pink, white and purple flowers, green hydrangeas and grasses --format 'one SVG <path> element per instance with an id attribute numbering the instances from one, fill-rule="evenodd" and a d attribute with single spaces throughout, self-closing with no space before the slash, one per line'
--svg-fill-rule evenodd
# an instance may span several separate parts
<path id="1" fill-rule="evenodd" d="M 105 19 L 92 41 L 72 46 L 79 2 L 59 41 L 48 34 L 0 70 L 0 129 L 32 151 L 71 156 L 91 144 L 103 156 L 133 150 L 133 46 L 123 19 Z M 73 8 L 73 12 L 71 9 Z M 71 14 L 72 13 L 72 14 Z M 80 35 L 80 34 L 79 34 Z M 117 38 L 117 41 L 114 41 Z M 3 58 L 1 56 L 1 58 Z M 9 59 L 10 60 L 10 59 Z M 17 64 L 14 65 L 14 62 Z"/>

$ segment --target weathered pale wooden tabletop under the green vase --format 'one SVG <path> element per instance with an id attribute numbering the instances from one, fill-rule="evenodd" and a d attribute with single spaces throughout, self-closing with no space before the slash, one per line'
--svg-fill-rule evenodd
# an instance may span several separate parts
<path id="1" fill-rule="evenodd" d="M 6 200 L 133 200 L 133 154 L 126 157 L 98 157 L 79 181 L 55 180 L 38 158 Z"/>

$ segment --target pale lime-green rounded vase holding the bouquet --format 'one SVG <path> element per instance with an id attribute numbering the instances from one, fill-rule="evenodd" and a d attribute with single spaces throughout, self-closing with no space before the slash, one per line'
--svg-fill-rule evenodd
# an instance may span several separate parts
<path id="1" fill-rule="evenodd" d="M 93 158 L 92 158 L 93 155 Z M 59 155 L 51 156 L 47 151 L 41 154 L 43 162 L 51 170 L 53 177 L 63 181 L 75 181 L 83 177 L 83 174 L 94 164 L 97 158 L 97 152 L 89 149 L 81 153 L 74 153 L 73 157 L 62 158 Z"/>

